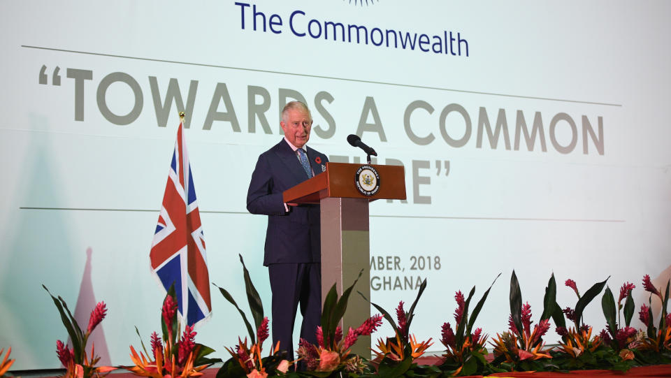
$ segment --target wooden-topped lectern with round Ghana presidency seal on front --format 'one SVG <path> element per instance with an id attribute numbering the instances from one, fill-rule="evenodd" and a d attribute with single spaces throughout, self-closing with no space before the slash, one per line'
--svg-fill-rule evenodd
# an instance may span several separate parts
<path id="1" fill-rule="evenodd" d="M 356 180 L 366 166 L 377 171 L 377 187 L 371 194 L 362 193 L 356 186 Z M 370 173 L 370 170 L 364 172 Z M 345 335 L 349 327 L 356 328 L 370 317 L 370 304 L 356 291 L 370 299 L 368 203 L 376 199 L 405 199 L 403 166 L 326 163 L 324 173 L 284 191 L 285 203 L 321 205 L 322 301 L 334 283 L 338 295 L 342 296 L 342 291 L 363 269 L 342 317 L 342 333 Z M 370 358 L 370 336 L 359 337 L 352 351 Z"/>

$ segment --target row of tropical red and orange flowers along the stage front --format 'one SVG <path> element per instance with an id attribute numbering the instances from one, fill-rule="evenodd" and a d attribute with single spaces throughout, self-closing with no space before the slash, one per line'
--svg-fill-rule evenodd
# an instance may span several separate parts
<path id="1" fill-rule="evenodd" d="M 433 345 L 433 339 L 418 342 L 417 337 L 410 333 L 410 325 L 415 317 L 414 310 L 426 289 L 426 279 L 419 286 L 417 297 L 409 310 L 405 311 L 405 303 L 401 300 L 395 309 L 394 319 L 380 305 L 371 303 L 380 314 L 366 319 L 357 328 L 349 327 L 347 333 L 343 332 L 340 321 L 359 278 L 345 289 L 340 298 L 333 285 L 324 298 L 322 325 L 315 330 L 317 344 L 301 339 L 296 351 L 298 356 L 296 361 L 287 359 L 284 352 L 280 351 L 279 343 L 271 345 L 268 354 L 263 356 L 263 344 L 269 335 L 269 320 L 268 317 L 264 317 L 261 298 L 252 284 L 242 256 L 240 263 L 243 266 L 245 291 L 254 326 L 233 300 L 233 296 L 225 289 L 219 288 L 224 298 L 240 313 L 249 339 L 247 336 L 244 340 L 238 338 L 238 343 L 234 347 L 225 347 L 230 358 L 217 371 L 217 378 L 440 378 L 512 371 L 566 372 L 586 369 L 626 371 L 635 366 L 671 363 L 671 314 L 668 312 L 671 280 L 667 282 L 665 290 L 662 290 L 661 287 L 652 284 L 649 275 L 643 277 L 642 286 L 649 293 L 649 299 L 647 303 L 640 305 L 637 313 L 644 328 L 636 329 L 631 324 L 636 311 L 632 297 L 635 284 L 630 282 L 622 284 L 616 300 L 607 286 L 609 277 L 603 282 L 593 284 L 582 295 L 576 282 L 566 279 L 564 284 L 575 293 L 577 301 L 572 306 L 561 307 L 556 301 L 557 286 L 554 275 L 551 275 L 545 287 L 542 313 L 534 324 L 531 305 L 528 302 L 523 303 L 514 271 L 510 278 L 508 330 L 496 333 L 496 337 L 489 340 L 489 336 L 482 328 L 474 328 L 477 316 L 483 309 L 489 291 L 498 276 L 484 291 L 472 310 L 470 304 L 475 294 L 475 286 L 468 296 L 456 291 L 454 328 L 450 321 L 446 321 L 440 328 L 439 340 L 445 351 L 436 365 L 417 363 L 417 358 Z M 48 291 L 46 286 L 44 289 Z M 68 347 L 61 340 L 57 341 L 57 355 L 66 368 L 64 377 L 100 378 L 114 370 L 115 368 L 110 366 L 96 366 L 100 358 L 95 356 L 93 348 L 91 356 L 87 356 L 86 352 L 89 335 L 106 317 L 105 303 L 100 302 L 96 305 L 91 312 L 87 328 L 82 330 L 65 301 L 49 294 L 72 343 L 72 347 Z M 601 296 L 601 308 L 605 318 L 605 324 L 600 332 L 597 332 L 598 328 L 585 324 L 582 316 L 585 308 L 598 296 Z M 653 303 L 653 300 L 656 303 Z M 214 350 L 196 344 L 196 332 L 191 326 L 186 326 L 183 333 L 180 333 L 177 307 L 175 291 L 171 288 L 161 309 L 162 336 L 159 337 L 156 332 L 152 333 L 151 352 L 147 351 L 144 343 L 142 343 L 143 352 L 139 354 L 131 346 L 131 360 L 135 365 L 122 368 L 143 377 L 197 377 L 203 375 L 201 372 L 203 369 L 222 361 L 206 357 Z M 655 313 L 653 308 L 660 310 Z M 352 346 L 356 340 L 360 336 L 375 332 L 382 324 L 382 318 L 394 330 L 394 335 L 380 337 L 377 340 L 375 348 L 371 349 L 375 355 L 372 360 L 352 353 Z M 561 340 L 558 345 L 550 347 L 544 337 L 547 337 L 547 332 L 552 326 L 561 336 Z M 0 358 L 3 351 L 0 350 Z M 8 359 L 10 351 L 11 349 L 0 362 L 0 377 L 8 372 L 14 362 Z"/>

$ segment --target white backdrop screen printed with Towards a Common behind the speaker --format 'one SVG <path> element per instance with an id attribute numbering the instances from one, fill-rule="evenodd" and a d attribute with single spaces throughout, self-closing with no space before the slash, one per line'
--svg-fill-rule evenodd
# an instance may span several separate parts
<path id="1" fill-rule="evenodd" d="M 372 297 L 391 312 L 416 295 L 406 281 L 427 278 L 412 332 L 433 351 L 454 291 L 476 285 L 477 300 L 499 272 L 477 322 L 489 334 L 507 328 L 513 269 L 537 321 L 552 272 L 572 307 L 567 278 L 585 291 L 610 275 L 644 298 L 641 277 L 671 266 L 666 1 L 0 6 L 0 347 L 17 370 L 59 366 L 67 335 L 42 283 L 71 308 L 80 288 L 105 300 L 114 364 L 130 362 L 134 326 L 159 330 L 148 256 L 183 108 L 210 281 L 244 303 L 242 254 L 268 314 L 266 219 L 245 196 L 296 97 L 312 108 L 310 145 L 332 161 L 363 160 L 345 141 L 359 133 L 378 162 L 405 166 L 407 203 L 370 206 L 373 259 L 401 261 L 373 267 Z M 345 41 L 324 38 L 338 22 Z M 368 43 L 347 41 L 348 25 Z M 417 34 L 414 50 L 382 40 L 388 30 Z M 542 136 L 527 143 L 535 117 Z M 585 315 L 598 330 L 599 302 Z M 216 291 L 212 303 L 197 340 L 227 358 L 243 324 Z"/>

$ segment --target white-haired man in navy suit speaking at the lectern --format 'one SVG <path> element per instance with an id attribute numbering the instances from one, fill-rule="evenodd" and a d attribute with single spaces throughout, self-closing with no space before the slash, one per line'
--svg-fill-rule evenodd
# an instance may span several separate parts
<path id="1" fill-rule="evenodd" d="M 305 145 L 312 116 L 308 106 L 291 101 L 282 110 L 280 143 L 264 152 L 252 173 L 247 210 L 268 215 L 264 266 L 273 293 L 273 344 L 293 359 L 294 321 L 301 305 L 301 337 L 317 344 L 322 312 L 319 205 L 284 203 L 282 193 L 326 170 L 326 155 Z"/>

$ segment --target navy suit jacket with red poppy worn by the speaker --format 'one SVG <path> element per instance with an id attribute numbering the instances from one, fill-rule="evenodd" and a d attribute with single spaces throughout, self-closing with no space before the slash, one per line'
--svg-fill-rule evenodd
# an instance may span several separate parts
<path id="1" fill-rule="evenodd" d="M 326 155 L 307 147 L 312 172 L 324 172 Z M 318 162 L 319 161 L 319 162 Z M 284 209 L 282 192 L 305 180 L 296 152 L 284 138 L 259 156 L 247 191 L 247 210 L 268 215 L 264 266 L 274 263 L 318 263 L 321 261 L 319 205 Z"/>

